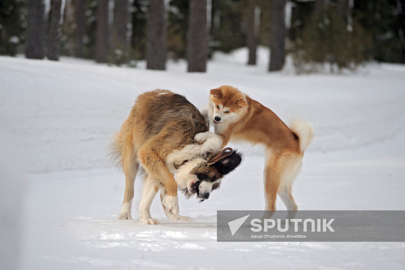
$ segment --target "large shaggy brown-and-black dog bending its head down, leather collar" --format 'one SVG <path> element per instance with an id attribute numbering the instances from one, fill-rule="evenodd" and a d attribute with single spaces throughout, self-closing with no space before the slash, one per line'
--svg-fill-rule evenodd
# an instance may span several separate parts
<path id="1" fill-rule="evenodd" d="M 207 120 L 184 96 L 168 90 L 138 96 L 111 145 L 113 159 L 122 166 L 126 181 L 119 219 L 131 219 L 140 165 L 145 170 L 139 204 L 143 223 L 158 224 L 149 208 L 159 190 L 164 212 L 172 220 L 188 219 L 179 216 L 178 189 L 188 197 L 196 194 L 200 201 L 209 198 L 242 158 L 233 150 L 220 151 L 221 138 L 208 129 Z"/>

